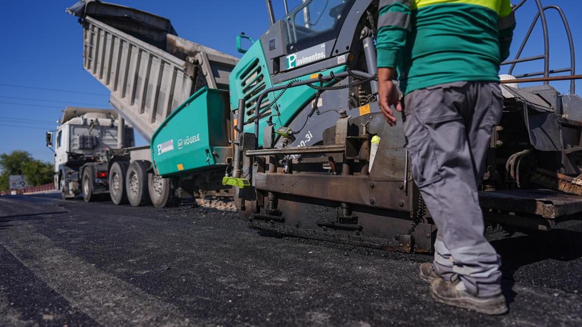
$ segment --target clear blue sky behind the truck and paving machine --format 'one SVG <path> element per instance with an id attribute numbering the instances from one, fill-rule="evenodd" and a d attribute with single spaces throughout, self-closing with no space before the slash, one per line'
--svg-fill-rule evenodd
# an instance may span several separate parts
<path id="1" fill-rule="evenodd" d="M 168 17 L 180 37 L 231 55 L 236 52 L 236 35 L 245 32 L 257 39 L 268 27 L 264 0 L 110 0 L 121 5 Z M 45 148 L 44 133 L 54 130 L 65 105 L 111 108 L 107 89 L 83 70 L 82 29 L 77 18 L 65 13 L 75 0 L 5 1 L 0 10 L 0 153 L 26 150 L 52 162 Z M 282 0 L 273 0 L 275 15 L 282 17 Z M 289 0 L 290 6 L 299 0 Z M 517 2 L 517 0 L 513 0 Z M 576 17 L 580 1 L 542 0 L 559 5 L 566 12 L 574 44 L 582 47 L 582 21 Z M 512 44 L 515 55 L 535 12 L 534 0 L 517 11 L 517 29 Z M 567 39 L 559 16 L 547 14 L 550 34 L 550 67 L 569 63 Z M 582 48 L 576 54 L 582 65 Z M 538 23 L 522 56 L 543 52 Z M 521 64 L 514 74 L 542 70 L 542 61 Z M 506 69 L 502 67 L 502 73 Z M 578 69 L 580 71 L 580 69 Z M 581 82 L 582 83 L 582 82 Z M 580 83 L 579 83 L 580 84 Z M 567 93 L 568 82 L 552 84 Z M 18 87 L 16 87 L 18 86 Z M 582 84 L 578 85 L 582 90 Z M 44 90 L 51 89 L 51 90 Z M 580 91 L 578 92 L 581 93 Z M 136 136 L 138 144 L 144 141 Z"/>

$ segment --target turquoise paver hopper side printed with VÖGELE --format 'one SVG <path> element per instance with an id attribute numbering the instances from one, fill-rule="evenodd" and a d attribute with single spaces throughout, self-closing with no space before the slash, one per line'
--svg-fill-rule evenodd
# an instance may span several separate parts
<path id="1" fill-rule="evenodd" d="M 228 91 L 201 88 L 159 126 L 151 139 L 152 162 L 161 176 L 216 169 L 232 158 Z"/>

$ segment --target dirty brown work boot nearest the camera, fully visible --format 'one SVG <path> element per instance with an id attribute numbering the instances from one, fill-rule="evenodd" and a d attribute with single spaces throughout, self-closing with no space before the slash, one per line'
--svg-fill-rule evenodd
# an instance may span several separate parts
<path id="1" fill-rule="evenodd" d="M 477 297 L 467 293 L 460 279 L 448 282 L 442 278 L 432 280 L 432 298 L 437 302 L 452 305 L 453 307 L 466 308 L 488 315 L 501 315 L 508 311 L 503 294 Z"/>

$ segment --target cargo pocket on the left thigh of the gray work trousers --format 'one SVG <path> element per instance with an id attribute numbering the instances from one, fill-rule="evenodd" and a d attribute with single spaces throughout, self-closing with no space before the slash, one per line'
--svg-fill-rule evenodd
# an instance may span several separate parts
<path id="1" fill-rule="evenodd" d="M 412 176 L 419 188 L 442 179 L 435 148 L 427 127 L 418 121 L 416 113 L 406 116 L 406 148 L 412 163 Z"/>

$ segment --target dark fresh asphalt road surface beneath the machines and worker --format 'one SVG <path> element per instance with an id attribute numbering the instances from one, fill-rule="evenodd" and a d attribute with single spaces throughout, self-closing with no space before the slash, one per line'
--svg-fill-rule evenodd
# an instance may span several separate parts
<path id="1" fill-rule="evenodd" d="M 278 237 L 230 212 L 0 197 L 0 326 L 582 325 L 582 222 L 488 230 L 509 314 L 435 303 L 399 254 Z"/>

